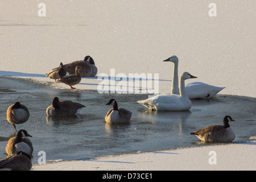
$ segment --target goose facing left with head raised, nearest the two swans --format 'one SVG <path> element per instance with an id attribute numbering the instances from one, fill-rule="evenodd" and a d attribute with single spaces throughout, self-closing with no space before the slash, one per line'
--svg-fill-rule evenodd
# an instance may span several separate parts
<path id="1" fill-rule="evenodd" d="M 130 122 L 131 112 L 129 110 L 119 108 L 117 106 L 117 101 L 113 98 L 109 100 L 106 105 L 112 105 L 113 109 L 110 109 L 105 116 L 105 121 L 107 123 L 127 123 Z"/>

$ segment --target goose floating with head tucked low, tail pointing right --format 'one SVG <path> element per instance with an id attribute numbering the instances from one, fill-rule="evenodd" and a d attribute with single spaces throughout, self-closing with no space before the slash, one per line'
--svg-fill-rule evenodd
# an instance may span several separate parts
<path id="1" fill-rule="evenodd" d="M 59 101 L 58 97 L 55 97 L 52 101 L 52 105 L 46 110 L 47 115 L 73 115 L 79 114 L 82 107 L 85 105 L 72 101 Z"/>

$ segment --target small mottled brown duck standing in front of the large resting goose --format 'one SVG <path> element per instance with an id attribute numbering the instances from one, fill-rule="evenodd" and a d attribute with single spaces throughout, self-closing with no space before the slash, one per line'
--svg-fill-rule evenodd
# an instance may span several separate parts
<path id="1" fill-rule="evenodd" d="M 81 81 L 81 75 L 80 75 L 81 69 L 82 68 L 80 66 L 77 66 L 76 67 L 76 75 L 65 76 L 63 78 L 60 78 L 60 80 L 58 82 L 62 82 L 64 84 L 69 85 L 71 87 L 71 89 L 76 89 L 76 88 L 73 88 L 72 85 L 79 84 L 79 82 Z"/>

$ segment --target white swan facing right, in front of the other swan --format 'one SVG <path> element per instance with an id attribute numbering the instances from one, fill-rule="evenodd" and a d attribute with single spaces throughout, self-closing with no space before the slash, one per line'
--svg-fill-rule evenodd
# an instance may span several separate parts
<path id="1" fill-rule="evenodd" d="M 177 94 L 159 94 L 158 96 L 148 98 L 143 101 L 137 101 L 139 104 L 147 107 L 149 110 L 169 110 L 182 111 L 191 108 L 191 100 L 185 90 L 185 80 L 189 78 L 197 78 L 184 72 L 180 77 L 180 95 Z"/>

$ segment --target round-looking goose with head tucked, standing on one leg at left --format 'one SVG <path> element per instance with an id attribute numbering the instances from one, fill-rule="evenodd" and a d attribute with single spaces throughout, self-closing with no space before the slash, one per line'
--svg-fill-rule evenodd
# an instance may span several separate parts
<path id="1" fill-rule="evenodd" d="M 27 107 L 16 102 L 7 109 L 6 118 L 9 123 L 13 124 L 15 130 L 18 124 L 22 124 L 30 117 L 30 112 Z M 17 130 L 16 130 L 17 131 Z"/>

